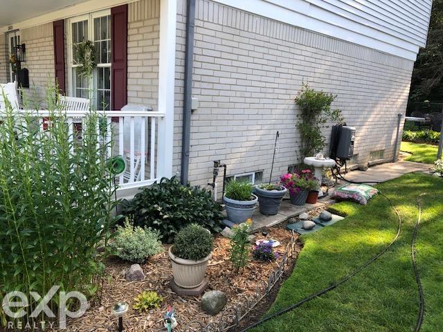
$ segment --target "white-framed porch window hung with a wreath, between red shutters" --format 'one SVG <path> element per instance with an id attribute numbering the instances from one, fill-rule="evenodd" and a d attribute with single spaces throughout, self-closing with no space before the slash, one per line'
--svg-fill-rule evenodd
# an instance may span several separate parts
<path id="1" fill-rule="evenodd" d="M 111 105 L 111 12 L 102 10 L 68 21 L 69 95 L 90 98 L 98 110 Z M 92 77 L 78 75 L 78 45 L 90 40 L 96 50 Z"/>

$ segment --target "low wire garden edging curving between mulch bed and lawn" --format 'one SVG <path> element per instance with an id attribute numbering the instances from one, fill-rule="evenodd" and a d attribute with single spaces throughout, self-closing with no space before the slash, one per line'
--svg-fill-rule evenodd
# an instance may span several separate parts
<path id="1" fill-rule="evenodd" d="M 284 254 L 280 260 L 278 267 L 269 275 L 267 282 L 261 282 L 257 286 L 253 295 L 242 296 L 239 298 L 239 304 L 226 306 L 221 316 L 213 322 L 205 323 L 198 320 L 188 323 L 184 329 L 174 329 L 177 332 L 224 332 L 236 327 L 242 322 L 242 319 L 255 308 L 257 304 L 268 295 L 273 286 L 281 279 L 285 272 L 285 268 L 289 263 L 289 258 L 293 257 L 296 251 L 296 238 L 292 232 L 291 241 L 284 247 Z M 179 322 L 180 323 L 180 322 Z M 156 332 L 164 332 L 165 328 L 157 329 Z"/>

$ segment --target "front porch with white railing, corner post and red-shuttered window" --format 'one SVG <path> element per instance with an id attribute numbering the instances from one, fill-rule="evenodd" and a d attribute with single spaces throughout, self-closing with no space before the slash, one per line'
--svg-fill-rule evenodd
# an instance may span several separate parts
<path id="1" fill-rule="evenodd" d="M 17 6 L 26 8 L 25 2 Z M 172 176 L 176 44 L 170 41 L 176 39 L 177 0 L 45 0 L 37 7 L 6 8 L 0 15 L 0 84 L 19 80 L 30 99 L 25 105 L 17 92 L 18 108 L 39 109 L 44 126 L 45 86 L 54 82 L 63 95 L 89 99 L 112 128 L 111 155 L 127 163 L 118 178 L 120 197 Z M 79 75 L 84 42 L 91 42 L 96 58 L 88 77 Z M 19 75 L 25 69 L 29 84 Z M 123 115 L 127 104 L 132 107 Z M 73 139 L 81 136 L 87 113 L 66 109 Z"/>

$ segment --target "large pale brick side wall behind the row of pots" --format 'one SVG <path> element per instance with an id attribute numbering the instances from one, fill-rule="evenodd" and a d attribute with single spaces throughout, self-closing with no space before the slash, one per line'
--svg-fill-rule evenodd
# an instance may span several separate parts
<path id="1" fill-rule="evenodd" d="M 186 4 L 179 1 L 174 165 L 179 169 Z M 370 151 L 392 158 L 397 113 L 404 113 L 413 62 L 258 17 L 212 1 L 197 0 L 192 95 L 190 176 L 212 178 L 213 160 L 228 175 L 264 171 L 269 178 L 275 132 L 279 154 L 273 178 L 299 163 L 298 109 L 302 82 L 337 95 L 334 108 L 356 127 L 359 163 Z M 329 140 L 330 129 L 325 130 Z"/>

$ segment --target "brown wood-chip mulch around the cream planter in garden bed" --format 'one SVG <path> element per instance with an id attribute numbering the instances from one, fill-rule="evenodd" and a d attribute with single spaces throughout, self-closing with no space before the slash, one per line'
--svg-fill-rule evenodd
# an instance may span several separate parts
<path id="1" fill-rule="evenodd" d="M 275 251 L 283 253 L 286 244 L 291 240 L 291 232 L 282 226 L 269 228 L 267 232 L 268 239 L 276 239 L 281 243 L 278 248 L 275 248 Z M 264 238 L 260 232 L 256 235 L 257 239 Z M 297 234 L 295 234 L 295 237 L 297 237 Z M 228 305 L 233 305 L 239 303 L 242 296 L 252 295 L 260 282 L 266 282 L 271 272 L 277 269 L 279 260 L 272 263 L 251 260 L 244 270 L 235 275 L 229 261 L 229 241 L 229 239 L 221 236 L 215 238 L 213 257 L 206 272 L 206 279 L 208 279 L 206 291 L 223 291 L 228 296 Z M 298 255 L 299 251 L 300 243 L 296 246 L 295 255 Z M 293 257 L 290 260 L 291 264 L 287 266 L 288 270 L 291 270 L 295 259 L 296 257 Z M 127 282 L 125 280 L 125 272 L 130 265 L 120 259 L 109 259 L 101 302 L 97 300 L 96 303 L 92 303 L 87 313 L 69 322 L 67 331 L 116 331 L 117 322 L 116 318 L 111 315 L 111 306 L 119 301 L 125 301 L 130 306 L 124 320 L 126 332 L 156 331 L 156 329 L 160 329 L 163 326 L 163 315 L 168 304 L 174 307 L 179 328 L 183 328 L 192 320 L 208 323 L 211 320 L 217 320 L 217 317 L 221 315 L 219 313 L 210 316 L 201 311 L 201 296 L 180 297 L 171 291 L 169 282 L 172 277 L 172 270 L 168 257 L 168 246 L 165 246 L 164 252 L 151 257 L 150 261 L 143 264 L 142 268 L 146 275 L 143 282 Z M 287 277 L 289 274 L 286 273 L 285 276 Z M 278 286 L 279 284 L 275 286 L 275 291 L 269 299 L 264 299 L 260 308 L 257 308 L 257 313 L 263 311 L 265 307 L 269 307 L 272 298 L 276 295 Z M 153 309 L 147 313 L 135 311 L 132 308 L 134 297 L 142 291 L 156 291 L 163 296 L 164 301 L 161 308 Z"/>

